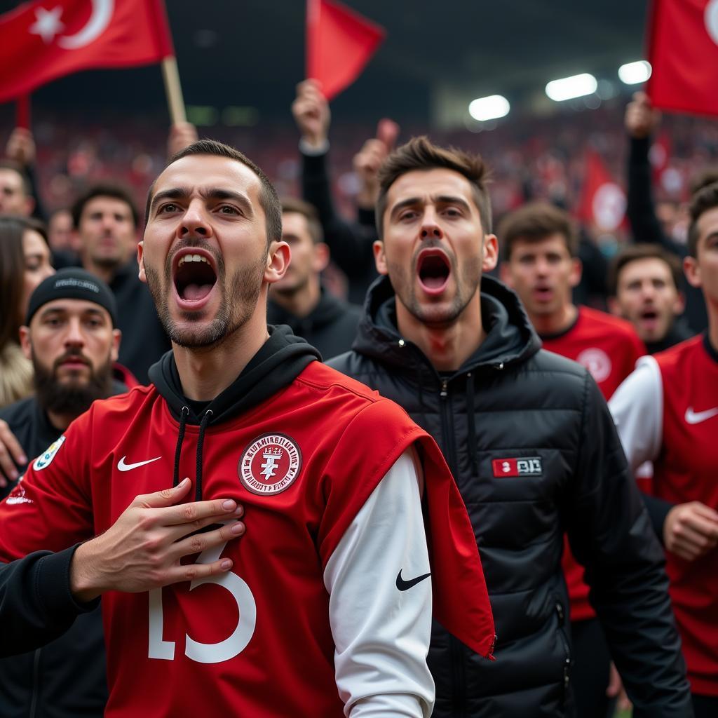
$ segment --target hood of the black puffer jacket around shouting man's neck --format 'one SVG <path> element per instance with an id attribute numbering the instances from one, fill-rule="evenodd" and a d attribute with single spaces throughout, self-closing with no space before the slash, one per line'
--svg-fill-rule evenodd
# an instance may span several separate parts
<path id="1" fill-rule="evenodd" d="M 413 360 L 429 364 L 419 347 L 404 340 L 396 323 L 396 295 L 388 277 L 380 277 L 367 292 L 365 314 L 353 350 L 386 365 L 406 368 L 406 346 Z M 541 340 L 516 294 L 492 276 L 481 279 L 481 314 L 486 338 L 458 373 L 482 366 L 520 363 L 541 348 Z"/>

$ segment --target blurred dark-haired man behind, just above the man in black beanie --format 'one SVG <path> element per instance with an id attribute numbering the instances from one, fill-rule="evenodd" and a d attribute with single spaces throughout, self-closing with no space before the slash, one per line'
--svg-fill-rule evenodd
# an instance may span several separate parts
<path id="1" fill-rule="evenodd" d="M 137 209 L 127 190 L 94 185 L 72 208 L 83 267 L 110 286 L 117 299 L 117 326 L 123 336 L 120 361 L 141 383 L 170 343 L 157 317 L 137 264 Z"/>

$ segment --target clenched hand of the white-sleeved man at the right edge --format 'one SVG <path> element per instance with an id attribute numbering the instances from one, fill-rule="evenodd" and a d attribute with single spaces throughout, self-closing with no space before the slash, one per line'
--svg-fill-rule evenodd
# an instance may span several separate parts
<path id="1" fill-rule="evenodd" d="M 686 561 L 695 561 L 718 545 L 718 512 L 700 501 L 673 506 L 663 522 L 663 544 Z"/>

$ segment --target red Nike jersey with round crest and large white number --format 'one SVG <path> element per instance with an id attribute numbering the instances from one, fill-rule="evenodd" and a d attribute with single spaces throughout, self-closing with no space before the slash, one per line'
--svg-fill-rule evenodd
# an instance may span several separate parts
<path id="1" fill-rule="evenodd" d="M 0 559 L 84 541 L 136 495 L 172 485 L 178 428 L 154 386 L 95 402 L 0 505 Z M 182 477 L 195 475 L 198 429 L 187 426 Z M 313 362 L 268 400 L 206 431 L 203 498 L 236 499 L 248 530 L 197 561 L 229 556 L 232 571 L 103 595 L 106 715 L 342 717 L 323 572 L 412 444 L 424 466 L 437 617 L 490 653 L 475 538 L 438 447 L 396 404 Z"/>

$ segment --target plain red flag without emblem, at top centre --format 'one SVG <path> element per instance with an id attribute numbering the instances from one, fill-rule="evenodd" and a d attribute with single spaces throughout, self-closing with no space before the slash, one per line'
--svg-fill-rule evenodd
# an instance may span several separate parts
<path id="1" fill-rule="evenodd" d="M 335 0 L 307 0 L 307 77 L 327 100 L 358 78 L 386 31 Z"/>

